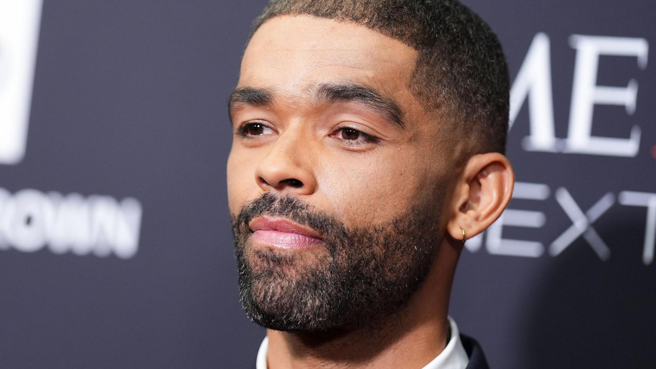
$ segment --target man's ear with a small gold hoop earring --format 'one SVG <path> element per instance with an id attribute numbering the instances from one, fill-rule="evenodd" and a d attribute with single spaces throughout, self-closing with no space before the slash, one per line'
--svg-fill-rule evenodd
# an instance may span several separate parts
<path id="1" fill-rule="evenodd" d="M 510 202 L 515 176 L 508 159 L 498 152 L 472 156 L 453 190 L 447 232 L 455 240 L 472 238 L 499 218 Z"/>

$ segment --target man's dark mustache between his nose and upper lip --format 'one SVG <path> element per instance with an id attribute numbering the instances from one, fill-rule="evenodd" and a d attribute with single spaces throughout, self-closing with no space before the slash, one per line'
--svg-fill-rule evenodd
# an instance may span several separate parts
<path id="1" fill-rule="evenodd" d="M 295 196 L 279 196 L 272 192 L 264 192 L 258 198 L 247 202 L 241 208 L 239 214 L 236 217 L 232 217 L 234 234 L 237 236 L 252 232 L 249 228 L 249 223 L 262 215 L 289 219 L 316 230 L 321 236 L 339 234 L 345 237 L 348 234 L 343 223 L 335 217 L 320 211 Z"/>

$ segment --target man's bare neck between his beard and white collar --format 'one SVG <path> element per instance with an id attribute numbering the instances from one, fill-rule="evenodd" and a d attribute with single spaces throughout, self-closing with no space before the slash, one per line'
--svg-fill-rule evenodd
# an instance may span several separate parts
<path id="1" fill-rule="evenodd" d="M 321 334 L 269 330 L 268 369 L 423 368 L 447 345 L 459 251 L 459 245 L 445 241 L 407 307 L 379 326 Z"/>

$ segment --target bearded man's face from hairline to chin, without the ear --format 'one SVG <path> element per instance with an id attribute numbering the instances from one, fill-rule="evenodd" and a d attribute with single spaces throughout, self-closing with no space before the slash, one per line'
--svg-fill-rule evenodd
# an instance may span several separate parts
<path id="1" fill-rule="evenodd" d="M 417 52 L 363 26 L 281 16 L 253 35 L 230 114 L 242 302 L 276 330 L 398 311 L 430 268 L 454 170 Z"/>

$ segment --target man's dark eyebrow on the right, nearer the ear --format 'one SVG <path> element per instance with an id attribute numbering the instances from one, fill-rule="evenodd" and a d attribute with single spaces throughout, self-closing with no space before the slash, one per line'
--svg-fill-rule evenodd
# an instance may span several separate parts
<path id="1" fill-rule="evenodd" d="M 398 104 L 392 98 L 384 97 L 375 89 L 354 83 L 333 84 L 324 83 L 316 89 L 318 102 L 356 101 L 365 104 L 382 114 L 384 118 L 403 128 L 403 114 Z"/>

